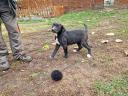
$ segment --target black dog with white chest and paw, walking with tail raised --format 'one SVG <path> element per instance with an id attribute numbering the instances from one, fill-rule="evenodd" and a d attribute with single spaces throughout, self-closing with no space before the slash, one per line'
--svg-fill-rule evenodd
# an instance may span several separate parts
<path id="1" fill-rule="evenodd" d="M 53 23 L 52 32 L 56 33 L 56 47 L 51 55 L 51 58 L 54 58 L 60 46 L 64 49 L 64 57 L 68 57 L 68 45 L 77 44 L 80 51 L 82 47 L 87 48 L 88 54 L 87 57 L 91 58 L 91 47 L 88 45 L 88 34 L 87 26 L 84 24 L 85 30 L 73 30 L 67 31 L 62 24 Z"/>

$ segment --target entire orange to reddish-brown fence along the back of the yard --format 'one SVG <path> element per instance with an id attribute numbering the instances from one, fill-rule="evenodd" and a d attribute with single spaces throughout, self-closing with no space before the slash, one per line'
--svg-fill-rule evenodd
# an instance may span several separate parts
<path id="1" fill-rule="evenodd" d="M 103 6 L 104 0 L 18 0 L 18 16 L 60 16 L 69 11 Z"/>

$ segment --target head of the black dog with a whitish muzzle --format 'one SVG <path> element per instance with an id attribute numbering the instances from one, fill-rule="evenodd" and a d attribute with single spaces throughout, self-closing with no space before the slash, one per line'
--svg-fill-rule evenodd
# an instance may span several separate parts
<path id="1" fill-rule="evenodd" d="M 62 24 L 53 23 L 52 25 L 52 32 L 54 33 L 60 33 L 62 31 L 65 31 L 65 28 Z"/>

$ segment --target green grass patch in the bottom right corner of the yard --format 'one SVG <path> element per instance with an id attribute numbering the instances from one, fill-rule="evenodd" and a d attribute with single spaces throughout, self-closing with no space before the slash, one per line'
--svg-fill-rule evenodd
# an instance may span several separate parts
<path id="1" fill-rule="evenodd" d="M 98 96 L 128 96 L 128 77 L 120 77 L 109 82 L 96 81 L 94 90 Z"/>

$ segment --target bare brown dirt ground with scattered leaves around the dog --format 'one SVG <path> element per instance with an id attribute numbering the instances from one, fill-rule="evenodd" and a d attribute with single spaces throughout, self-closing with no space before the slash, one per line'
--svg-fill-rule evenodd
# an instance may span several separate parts
<path id="1" fill-rule="evenodd" d="M 56 58 L 51 60 L 53 33 L 23 34 L 24 48 L 33 61 L 29 64 L 16 62 L 9 55 L 11 69 L 0 73 L 0 96 L 97 96 L 93 90 L 96 80 L 108 81 L 128 73 L 128 57 L 123 52 L 128 49 L 128 37 L 117 34 L 119 26 L 122 25 L 113 17 L 89 30 L 94 60 L 87 59 L 85 49 L 74 53 L 72 50 L 76 45 L 69 47 L 68 59 L 63 58 L 60 48 Z M 106 36 L 109 32 L 115 33 L 115 36 Z M 104 39 L 109 42 L 102 44 Z M 115 39 L 122 39 L 123 42 L 116 43 Z M 43 48 L 46 44 L 49 47 Z M 64 75 L 59 82 L 50 78 L 55 69 L 61 70 Z"/>

